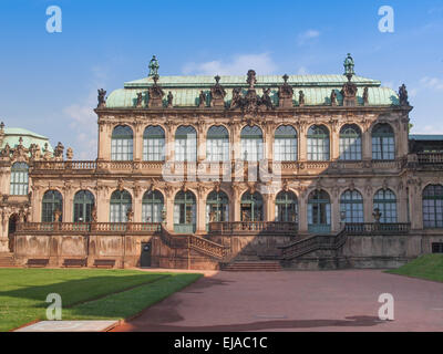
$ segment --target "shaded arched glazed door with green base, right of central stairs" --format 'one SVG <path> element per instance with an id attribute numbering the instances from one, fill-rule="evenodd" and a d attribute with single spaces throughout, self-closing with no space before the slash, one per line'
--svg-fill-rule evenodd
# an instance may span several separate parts
<path id="1" fill-rule="evenodd" d="M 309 195 L 308 230 L 318 233 L 331 230 L 331 201 L 324 190 L 313 190 Z"/>

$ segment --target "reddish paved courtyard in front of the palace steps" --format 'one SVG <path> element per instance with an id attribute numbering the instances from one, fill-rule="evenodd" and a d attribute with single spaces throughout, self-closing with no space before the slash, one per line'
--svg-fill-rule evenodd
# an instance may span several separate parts
<path id="1" fill-rule="evenodd" d="M 380 321 L 381 293 L 394 321 Z M 114 331 L 443 331 L 443 283 L 380 270 L 207 274 Z"/>

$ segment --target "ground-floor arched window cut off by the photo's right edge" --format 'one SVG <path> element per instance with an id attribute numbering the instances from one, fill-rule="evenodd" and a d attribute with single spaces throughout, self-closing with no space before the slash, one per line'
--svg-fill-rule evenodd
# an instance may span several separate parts
<path id="1" fill-rule="evenodd" d="M 443 186 L 430 185 L 423 190 L 423 227 L 443 228 Z"/>

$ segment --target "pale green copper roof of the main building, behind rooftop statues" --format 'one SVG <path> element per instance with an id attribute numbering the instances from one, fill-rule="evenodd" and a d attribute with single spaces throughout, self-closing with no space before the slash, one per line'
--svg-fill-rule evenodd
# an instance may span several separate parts
<path id="1" fill-rule="evenodd" d="M 348 79 L 343 75 L 291 75 L 288 76 L 288 84 L 293 88 L 293 103 L 298 105 L 299 91 L 305 93 L 305 105 L 328 105 L 330 104 L 331 91 L 336 90 L 337 101 L 342 102 L 340 94 L 343 84 Z M 229 103 L 233 95 L 233 87 L 243 87 L 246 93 L 248 84 L 246 75 L 220 76 L 219 83 L 226 90 L 225 102 Z M 257 75 L 256 91 L 258 95 L 262 94 L 262 87 L 270 87 L 270 97 L 274 104 L 278 104 L 278 87 L 284 84 L 284 79 L 279 75 Z M 353 76 L 352 82 L 358 86 L 358 101 L 363 104 L 363 90 L 368 87 L 369 105 L 391 106 L 399 105 L 399 96 L 388 87 L 381 87 L 380 81 Z M 142 92 L 147 103 L 147 88 L 153 85 L 153 77 L 144 77 L 136 81 L 126 82 L 124 88 L 113 91 L 107 100 L 109 108 L 131 108 L 136 106 L 137 93 Z M 196 107 L 200 91 L 210 93 L 210 87 L 215 84 L 213 76 L 159 76 L 158 84 L 162 86 L 166 103 L 167 93 L 171 91 L 174 95 L 173 105 L 177 107 Z"/>

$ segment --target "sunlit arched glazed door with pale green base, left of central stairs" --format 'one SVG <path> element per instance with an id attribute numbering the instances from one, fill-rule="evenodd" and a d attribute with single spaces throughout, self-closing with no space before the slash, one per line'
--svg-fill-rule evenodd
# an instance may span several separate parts
<path id="1" fill-rule="evenodd" d="M 193 233 L 196 226 L 196 201 L 192 191 L 179 191 L 174 200 L 174 231 Z"/>

